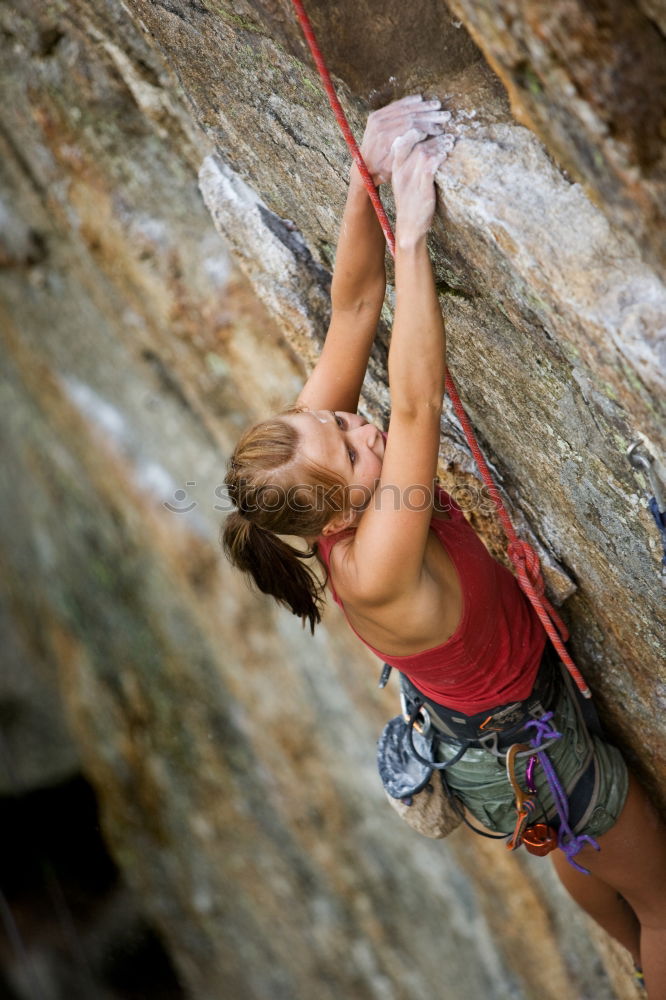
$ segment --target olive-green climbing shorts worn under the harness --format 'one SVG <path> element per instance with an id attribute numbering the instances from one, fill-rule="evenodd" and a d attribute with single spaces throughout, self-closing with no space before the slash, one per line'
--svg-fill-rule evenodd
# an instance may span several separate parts
<path id="1" fill-rule="evenodd" d="M 617 747 L 588 730 L 573 682 L 564 668 L 561 669 L 563 679 L 551 721 L 561 738 L 546 753 L 569 798 L 572 830 L 576 834 L 600 837 L 614 825 L 624 806 L 629 782 L 627 766 Z M 534 730 L 528 733 L 533 736 Z M 457 747 L 440 742 L 437 760 L 450 760 L 456 750 Z M 516 765 L 516 776 L 526 794 L 525 768 L 530 755 L 519 754 Z M 443 773 L 451 790 L 479 823 L 495 833 L 513 832 L 515 799 L 504 754 L 497 757 L 489 750 L 470 747 L 460 761 Z M 531 822 L 547 822 L 557 828 L 557 809 L 546 775 L 538 763 L 534 778 L 538 807 Z"/>

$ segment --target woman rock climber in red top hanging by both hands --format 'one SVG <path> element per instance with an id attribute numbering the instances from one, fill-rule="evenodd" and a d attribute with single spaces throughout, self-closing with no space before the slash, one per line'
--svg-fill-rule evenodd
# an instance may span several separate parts
<path id="1" fill-rule="evenodd" d="M 468 742 L 447 779 L 487 829 L 515 834 L 507 752 L 521 744 L 523 765 L 534 761 L 528 726 L 542 726 L 541 746 L 568 796 L 566 836 L 548 776 L 524 766 L 520 775 L 520 765 L 517 775 L 544 819 L 559 822 L 557 873 L 643 967 L 650 997 L 666 998 L 664 827 L 619 751 L 586 725 L 514 577 L 436 485 L 445 331 L 426 236 L 450 148 L 447 117 L 438 101 L 405 97 L 370 115 L 362 144 L 375 184 L 390 180 L 396 205 L 388 433 L 356 412 L 384 299 L 385 247 L 354 166 L 321 356 L 296 405 L 238 442 L 226 477 L 238 510 L 224 548 L 313 632 L 324 588 L 305 560 L 317 556 L 356 634 L 409 679 L 440 736 L 451 736 L 440 760 Z"/>

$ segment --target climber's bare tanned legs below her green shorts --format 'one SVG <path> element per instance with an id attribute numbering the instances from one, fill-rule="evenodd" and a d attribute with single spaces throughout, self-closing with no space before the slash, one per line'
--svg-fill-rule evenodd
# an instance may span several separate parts
<path id="1" fill-rule="evenodd" d="M 583 909 L 628 947 L 632 938 L 628 925 L 622 925 L 617 896 L 613 902 L 613 892 L 621 894 L 640 923 L 640 964 L 650 1000 L 666 1000 L 666 827 L 631 773 L 617 822 L 597 839 L 601 850 L 586 844 L 576 855 L 576 861 L 591 872 L 589 876 L 580 874 L 580 879 L 589 879 L 587 891 L 568 873 L 564 884 Z M 556 862 L 558 873 L 567 866 L 566 861 L 564 866 Z M 572 869 L 572 874 L 579 873 Z M 604 892 L 598 883 L 611 890 L 611 894 L 605 893 L 608 926 L 607 918 L 600 918 Z M 634 947 L 629 947 L 632 954 Z"/>

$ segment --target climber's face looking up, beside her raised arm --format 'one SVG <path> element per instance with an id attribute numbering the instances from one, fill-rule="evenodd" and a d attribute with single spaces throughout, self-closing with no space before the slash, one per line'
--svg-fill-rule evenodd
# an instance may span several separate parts
<path id="1" fill-rule="evenodd" d="M 382 470 L 385 445 L 379 428 L 342 410 L 306 410 L 283 419 L 298 428 L 302 456 L 337 473 L 349 488 L 351 504 L 365 508 Z"/>

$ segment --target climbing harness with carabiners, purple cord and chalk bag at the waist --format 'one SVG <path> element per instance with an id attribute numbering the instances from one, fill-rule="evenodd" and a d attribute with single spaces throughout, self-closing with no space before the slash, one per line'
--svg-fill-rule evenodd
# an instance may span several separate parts
<path id="1" fill-rule="evenodd" d="M 390 668 L 384 664 L 380 686 L 385 686 L 389 675 Z M 596 765 L 588 726 L 584 726 L 587 735 L 583 756 L 573 775 L 567 776 L 569 798 L 548 756 L 548 751 L 562 739 L 562 734 L 553 726 L 553 710 L 563 696 L 562 685 L 575 699 L 571 680 L 566 673 L 560 673 L 553 653 L 546 647 L 544 662 L 527 699 L 498 706 L 490 714 L 480 712 L 475 716 L 463 716 L 458 711 L 430 701 L 401 673 L 402 714 L 387 723 L 377 747 L 378 769 L 391 804 L 414 829 L 426 836 L 446 836 L 462 820 L 475 833 L 505 839 L 507 849 L 512 851 L 522 845 L 528 853 L 544 857 L 560 847 L 574 868 L 587 873 L 574 856 L 586 843 L 595 849 L 599 849 L 599 845 L 592 837 L 576 835 L 572 827 L 585 822 L 585 817 L 590 815 L 597 801 Z M 582 699 L 576 703 L 575 711 L 583 721 L 588 707 L 591 703 Z M 595 731 L 594 719 L 590 720 L 590 727 Z M 440 744 L 451 753 L 446 760 L 438 759 L 437 747 Z M 516 808 L 511 834 L 491 834 L 475 827 L 465 816 L 463 803 L 450 787 L 447 772 L 462 761 L 471 748 L 482 749 L 503 762 Z M 524 765 L 522 784 L 519 765 Z M 537 792 L 537 767 L 543 772 L 552 798 L 548 814 Z M 455 771 L 451 773 L 455 774 Z M 448 797 L 450 808 L 446 807 L 445 800 L 439 802 L 439 807 L 444 808 L 443 817 L 436 812 L 437 800 L 423 795 L 424 788 L 432 792 L 433 787 L 439 795 L 443 789 Z M 460 817 L 457 822 L 452 817 L 451 809 Z M 424 810 L 428 811 L 425 817 L 422 815 Z"/>

